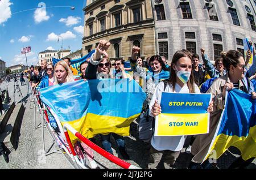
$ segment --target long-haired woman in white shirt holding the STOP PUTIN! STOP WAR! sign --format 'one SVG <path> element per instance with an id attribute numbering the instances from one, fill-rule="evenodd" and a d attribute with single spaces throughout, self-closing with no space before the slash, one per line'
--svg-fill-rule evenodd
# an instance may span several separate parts
<path id="1" fill-rule="evenodd" d="M 192 71 L 192 54 L 187 50 L 179 50 L 174 54 L 171 63 L 171 76 L 167 80 L 166 88 L 164 82 L 160 82 L 155 89 L 150 102 L 150 115 L 155 117 L 161 113 L 158 104 L 162 92 L 176 93 L 200 93 L 194 82 Z M 208 112 L 212 112 L 213 102 L 208 106 Z M 172 168 L 180 151 L 183 148 L 187 136 L 152 136 L 150 160 L 148 168 L 156 168 L 163 157 L 164 168 Z"/>

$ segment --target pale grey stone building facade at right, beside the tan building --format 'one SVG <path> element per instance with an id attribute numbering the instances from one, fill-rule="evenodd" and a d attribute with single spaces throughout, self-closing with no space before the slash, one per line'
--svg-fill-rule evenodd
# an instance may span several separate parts
<path id="1" fill-rule="evenodd" d="M 177 50 L 200 54 L 204 48 L 210 59 L 222 50 L 243 53 L 243 38 L 256 43 L 253 0 L 151 0 L 156 32 L 156 53 L 169 59 Z M 169 61 L 170 62 L 170 61 Z"/>

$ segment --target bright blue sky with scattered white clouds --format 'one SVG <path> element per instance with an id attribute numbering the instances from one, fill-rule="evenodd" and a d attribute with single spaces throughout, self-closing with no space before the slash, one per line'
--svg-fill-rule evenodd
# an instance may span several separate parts
<path id="1" fill-rule="evenodd" d="M 0 59 L 6 67 L 26 65 L 21 49 L 31 46 L 30 66 L 38 62 L 39 52 L 59 50 L 62 41 L 63 49 L 81 49 L 85 5 L 86 0 L 0 0 Z"/>

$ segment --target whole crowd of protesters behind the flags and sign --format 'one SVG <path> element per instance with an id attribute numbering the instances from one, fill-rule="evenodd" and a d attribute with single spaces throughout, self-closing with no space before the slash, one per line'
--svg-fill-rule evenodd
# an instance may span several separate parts
<path id="1" fill-rule="evenodd" d="M 249 93 L 252 99 L 256 98 L 252 84 L 256 76 L 256 62 L 253 62 L 249 69 L 246 68 L 250 57 L 255 56 L 255 52 L 249 50 L 246 59 L 237 50 L 222 52 L 221 57 L 213 65 L 205 53 L 205 49 L 201 48 L 200 55 L 203 65 L 200 65 L 200 55 L 192 54 L 188 50 L 179 50 L 172 57 L 171 64 L 168 65 L 168 59 L 159 55 L 153 55 L 143 61 L 142 57 L 139 56 L 141 49 L 134 46 L 129 59 L 130 68 L 125 68 L 123 59 L 110 61 L 109 46 L 110 42 L 101 40 L 89 61 L 81 63 L 81 76 L 76 79 L 73 78 L 73 73 L 77 70 L 71 66 L 71 59 L 69 58 L 62 59 L 55 66 L 52 63 L 47 64 L 46 60 L 41 62 L 41 66 L 31 66 L 30 71 L 28 71 L 28 78 L 32 87 L 38 87 L 40 91 L 40 88 L 79 79 L 134 79 L 139 85 L 146 87 L 144 88 L 146 100 L 143 104 L 142 114 L 146 115 L 147 118 L 155 118 L 161 113 L 161 107 L 158 104 L 161 92 L 212 93 L 213 98 L 207 109 L 210 113 L 209 133 L 195 136 L 153 135 L 150 141 L 148 168 L 156 168 L 161 160 L 164 168 L 172 168 L 187 138 L 191 138 L 191 141 L 186 152 L 191 152 L 194 156 L 188 168 L 217 168 L 216 164 L 201 163 L 209 149 L 210 142 L 212 142 L 220 115 L 224 109 L 225 90 L 236 88 Z M 133 73 L 131 74 L 127 70 Z M 117 143 L 123 159 L 129 159 L 130 157 L 125 150 L 125 140 L 113 132 L 109 135 L 100 135 L 104 149 L 113 154 L 111 136 Z M 94 164 L 92 149 L 81 142 L 75 144 L 75 149 L 80 158 L 84 158 L 83 153 L 85 153 L 85 156 L 88 156 L 90 160 L 90 166 L 97 168 L 97 165 Z M 243 161 L 242 158 L 238 158 L 231 167 L 244 168 L 253 159 Z"/>

